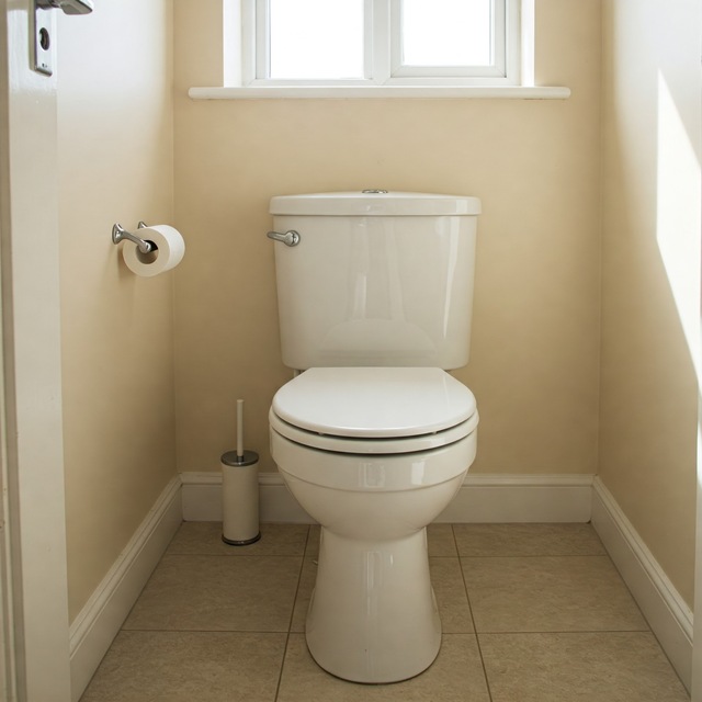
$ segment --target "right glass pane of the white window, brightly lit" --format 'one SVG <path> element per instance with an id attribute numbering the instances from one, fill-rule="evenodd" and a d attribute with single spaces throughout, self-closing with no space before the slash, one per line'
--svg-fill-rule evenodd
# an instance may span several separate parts
<path id="1" fill-rule="evenodd" d="M 403 0 L 403 63 L 489 66 L 492 0 Z"/>

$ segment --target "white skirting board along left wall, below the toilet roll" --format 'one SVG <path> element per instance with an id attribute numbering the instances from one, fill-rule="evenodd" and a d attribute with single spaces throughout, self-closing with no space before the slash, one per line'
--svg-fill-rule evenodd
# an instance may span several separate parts
<path id="1" fill-rule="evenodd" d="M 70 626 L 72 702 L 90 682 L 182 519 L 181 480 L 177 476 Z"/>

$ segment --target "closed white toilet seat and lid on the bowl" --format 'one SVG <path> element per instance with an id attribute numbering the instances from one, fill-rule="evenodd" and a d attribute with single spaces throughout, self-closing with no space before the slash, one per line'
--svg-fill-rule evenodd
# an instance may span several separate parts
<path id="1" fill-rule="evenodd" d="M 475 397 L 434 367 L 316 367 L 273 398 L 271 428 L 341 453 L 408 453 L 448 445 L 478 423 Z"/>

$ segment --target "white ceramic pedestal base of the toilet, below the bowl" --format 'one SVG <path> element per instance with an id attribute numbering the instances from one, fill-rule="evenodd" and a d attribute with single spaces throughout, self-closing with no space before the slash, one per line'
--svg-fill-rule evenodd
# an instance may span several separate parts
<path id="1" fill-rule="evenodd" d="M 359 541 L 322 526 L 307 646 L 328 672 L 353 682 L 412 678 L 439 654 L 441 621 L 429 577 L 427 530 Z"/>

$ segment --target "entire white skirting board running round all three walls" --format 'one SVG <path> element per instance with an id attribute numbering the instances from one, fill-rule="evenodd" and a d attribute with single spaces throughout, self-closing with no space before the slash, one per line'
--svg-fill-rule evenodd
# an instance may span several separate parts
<path id="1" fill-rule="evenodd" d="M 259 474 L 262 522 L 313 523 L 278 473 Z M 182 473 L 166 487 L 70 627 L 72 700 L 82 694 L 182 520 L 222 521 L 222 473 Z M 692 613 L 631 522 L 592 475 L 468 474 L 437 521 L 587 522 L 690 688 Z"/>

